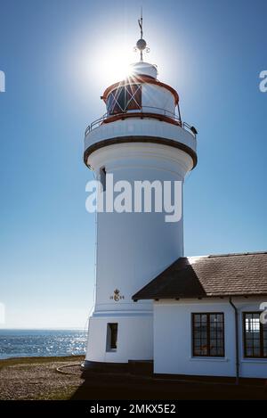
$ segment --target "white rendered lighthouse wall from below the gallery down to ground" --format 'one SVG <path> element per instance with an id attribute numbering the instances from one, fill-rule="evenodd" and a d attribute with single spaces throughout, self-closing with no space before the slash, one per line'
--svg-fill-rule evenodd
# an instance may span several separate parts
<path id="1" fill-rule="evenodd" d="M 118 122 L 115 122 L 118 123 Z M 142 137 L 141 137 L 142 139 Z M 127 180 L 180 180 L 192 168 L 190 156 L 157 143 L 119 143 L 88 159 L 114 183 Z M 95 307 L 89 325 L 86 360 L 125 363 L 152 359 L 152 301 L 134 303 L 133 294 L 183 254 L 182 219 L 167 223 L 165 213 L 97 214 Z M 123 299 L 110 299 L 118 289 Z M 106 350 L 107 324 L 118 324 L 117 351 Z"/>

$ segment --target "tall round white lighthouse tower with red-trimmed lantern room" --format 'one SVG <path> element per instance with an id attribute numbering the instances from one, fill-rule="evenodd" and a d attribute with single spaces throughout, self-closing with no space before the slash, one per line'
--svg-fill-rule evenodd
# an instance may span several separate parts
<path id="1" fill-rule="evenodd" d="M 133 73 L 109 86 L 101 99 L 107 112 L 85 131 L 85 164 L 108 193 L 113 182 L 183 182 L 195 167 L 196 130 L 182 122 L 179 96 L 158 80 L 155 65 L 140 61 Z M 103 211 L 96 223 L 96 283 L 89 320 L 85 368 L 127 365 L 153 359 L 152 300 L 132 296 L 183 256 L 182 218 L 166 222 L 166 213 Z"/>

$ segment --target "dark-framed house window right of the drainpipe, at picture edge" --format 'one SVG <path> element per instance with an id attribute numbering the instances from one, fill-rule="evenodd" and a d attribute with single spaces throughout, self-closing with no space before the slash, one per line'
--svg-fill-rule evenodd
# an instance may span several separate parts
<path id="1" fill-rule="evenodd" d="M 261 312 L 244 312 L 244 357 L 267 357 L 267 325 L 260 321 Z"/>

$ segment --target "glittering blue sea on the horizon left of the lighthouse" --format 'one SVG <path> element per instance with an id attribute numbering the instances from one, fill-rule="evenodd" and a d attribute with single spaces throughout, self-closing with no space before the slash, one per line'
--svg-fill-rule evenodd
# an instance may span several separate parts
<path id="1" fill-rule="evenodd" d="M 83 330 L 0 329 L 0 359 L 85 355 Z"/>

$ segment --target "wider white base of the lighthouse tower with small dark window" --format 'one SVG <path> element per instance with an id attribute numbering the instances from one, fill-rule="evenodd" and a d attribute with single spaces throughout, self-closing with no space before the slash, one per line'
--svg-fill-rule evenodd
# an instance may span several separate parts
<path id="1" fill-rule="evenodd" d="M 85 368 L 152 358 L 152 312 L 98 312 L 90 317 Z"/>

